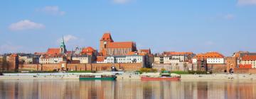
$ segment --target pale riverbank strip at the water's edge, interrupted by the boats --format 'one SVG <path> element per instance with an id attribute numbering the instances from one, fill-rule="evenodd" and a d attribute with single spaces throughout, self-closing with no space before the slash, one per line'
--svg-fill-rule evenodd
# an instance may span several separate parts
<path id="1" fill-rule="evenodd" d="M 29 80 L 29 79 L 79 79 L 79 75 L 90 73 L 69 74 L 5 74 L 0 80 Z M 157 75 L 157 74 L 152 74 Z M 141 75 L 117 75 L 117 80 L 140 79 Z M 256 74 L 181 74 L 181 80 L 256 80 Z"/>

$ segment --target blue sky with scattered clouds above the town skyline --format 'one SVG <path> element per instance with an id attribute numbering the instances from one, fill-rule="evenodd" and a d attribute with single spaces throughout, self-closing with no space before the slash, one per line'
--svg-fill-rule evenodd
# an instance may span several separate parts
<path id="1" fill-rule="evenodd" d="M 0 53 L 99 49 L 103 33 L 151 52 L 256 52 L 256 0 L 1 0 Z"/>

